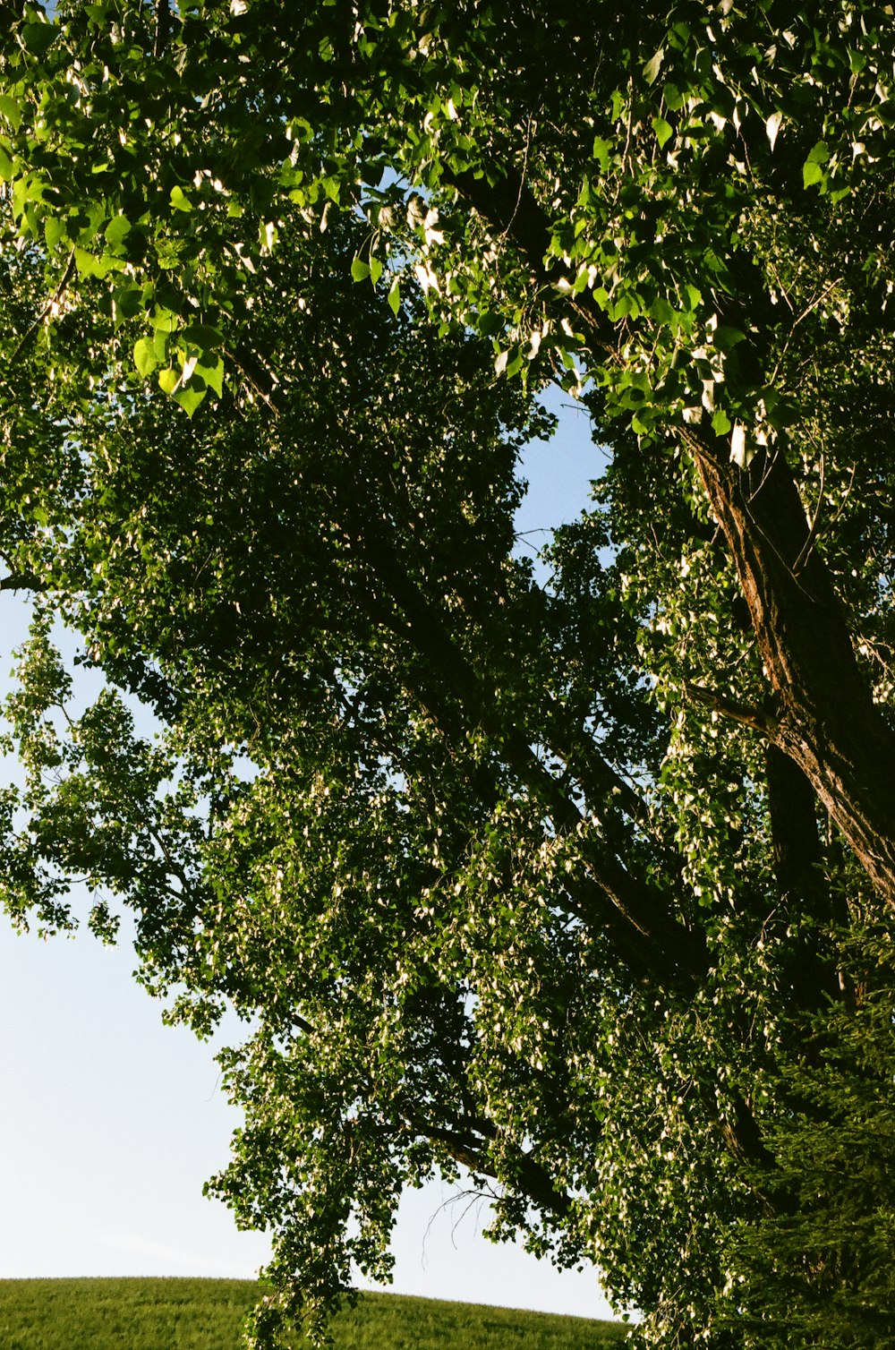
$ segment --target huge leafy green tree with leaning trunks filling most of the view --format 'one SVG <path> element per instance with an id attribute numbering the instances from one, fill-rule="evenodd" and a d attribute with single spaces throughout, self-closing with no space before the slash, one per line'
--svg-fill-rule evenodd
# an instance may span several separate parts
<path id="1" fill-rule="evenodd" d="M 258 1018 L 215 1185 L 277 1233 L 262 1339 L 463 1166 L 644 1343 L 892 1342 L 894 46 L 844 0 L 15 11 L 7 903 L 86 875 L 171 1015 Z M 539 586 L 556 371 L 613 455 Z M 61 734 L 51 613 L 162 745 L 112 690 Z"/>

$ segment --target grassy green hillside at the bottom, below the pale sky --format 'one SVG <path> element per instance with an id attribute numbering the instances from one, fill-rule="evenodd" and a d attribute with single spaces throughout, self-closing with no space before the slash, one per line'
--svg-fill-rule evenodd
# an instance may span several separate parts
<path id="1" fill-rule="evenodd" d="M 0 1280 L 3 1350 L 238 1350 L 248 1280 Z M 612 1322 L 364 1293 L 337 1350 L 602 1350 Z"/>

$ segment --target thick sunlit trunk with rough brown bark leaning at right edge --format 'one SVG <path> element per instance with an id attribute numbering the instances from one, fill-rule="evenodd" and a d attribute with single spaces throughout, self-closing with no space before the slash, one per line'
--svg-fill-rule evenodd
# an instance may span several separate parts
<path id="1" fill-rule="evenodd" d="M 687 432 L 725 533 L 776 707 L 767 733 L 802 768 L 880 894 L 895 903 L 895 734 L 861 675 L 828 568 L 779 450 L 748 468 Z"/>

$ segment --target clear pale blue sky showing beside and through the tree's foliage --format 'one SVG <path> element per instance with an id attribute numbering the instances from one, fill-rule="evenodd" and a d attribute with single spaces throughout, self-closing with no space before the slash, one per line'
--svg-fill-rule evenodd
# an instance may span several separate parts
<path id="1" fill-rule="evenodd" d="M 549 444 L 525 458 L 529 533 L 574 518 L 602 467 L 586 414 L 555 394 Z M 22 601 L 0 594 L 0 688 L 22 641 Z M 132 980 L 126 942 L 16 936 L 0 917 L 0 1278 L 173 1274 L 251 1277 L 263 1235 L 238 1233 L 202 1197 L 239 1115 L 213 1045 L 166 1027 Z M 239 1023 L 231 1025 L 239 1034 Z M 220 1044 L 227 1044 L 227 1027 Z M 412 1192 L 394 1241 L 402 1293 L 609 1316 L 593 1272 L 555 1272 L 479 1235 L 481 1206 L 437 1184 Z"/>

